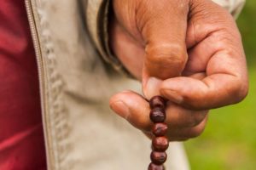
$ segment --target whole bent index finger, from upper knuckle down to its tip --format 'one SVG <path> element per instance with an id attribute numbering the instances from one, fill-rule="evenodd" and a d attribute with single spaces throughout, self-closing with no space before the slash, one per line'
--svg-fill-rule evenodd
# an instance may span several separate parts
<path id="1" fill-rule="evenodd" d="M 234 20 L 216 4 L 210 1 L 204 3 L 206 4 L 201 6 L 214 12 L 195 5 L 193 17 L 198 20 L 194 19 L 193 27 L 197 30 L 192 31 L 202 32 L 195 32 L 195 37 L 199 37 L 197 40 L 200 42 L 195 45 L 192 58 L 197 57 L 203 63 L 201 67 L 196 66 L 192 59 L 188 62 L 188 67 L 192 72 L 205 70 L 207 77 L 202 80 L 176 77 L 160 85 L 160 94 L 179 105 L 195 110 L 235 104 L 245 98 L 248 88 L 246 59 Z"/>

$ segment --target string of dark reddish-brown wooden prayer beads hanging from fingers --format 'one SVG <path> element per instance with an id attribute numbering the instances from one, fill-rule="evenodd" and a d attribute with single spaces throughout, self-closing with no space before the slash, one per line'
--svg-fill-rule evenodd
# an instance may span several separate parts
<path id="1" fill-rule="evenodd" d="M 169 146 L 169 141 L 166 138 L 167 125 L 166 121 L 166 100 L 160 96 L 154 96 L 149 100 L 150 120 L 154 122 L 152 133 L 152 152 L 150 154 L 151 163 L 148 165 L 148 170 L 165 170 L 164 163 L 167 159 L 166 150 Z"/>

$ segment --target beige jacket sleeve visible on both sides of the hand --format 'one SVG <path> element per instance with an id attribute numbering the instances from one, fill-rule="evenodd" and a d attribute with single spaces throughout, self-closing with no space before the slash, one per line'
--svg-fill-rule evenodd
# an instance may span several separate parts
<path id="1" fill-rule="evenodd" d="M 214 3 L 226 8 L 230 14 L 237 18 L 241 13 L 241 9 L 245 0 L 212 0 Z M 115 57 L 108 46 L 108 12 L 110 0 L 87 0 L 85 1 L 85 22 L 87 24 L 90 37 L 95 43 L 97 50 L 102 58 L 116 71 L 123 72 L 131 76 L 125 70 L 124 65 Z"/>

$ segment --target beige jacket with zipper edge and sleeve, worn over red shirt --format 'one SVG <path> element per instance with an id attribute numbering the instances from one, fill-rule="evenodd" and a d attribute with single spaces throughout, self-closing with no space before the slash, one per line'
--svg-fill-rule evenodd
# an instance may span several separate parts
<path id="1" fill-rule="evenodd" d="M 237 15 L 243 1 L 216 2 Z M 26 8 L 38 61 L 48 169 L 147 169 L 150 141 L 108 108 L 109 97 L 120 90 L 140 91 L 138 82 L 113 70 L 122 65 L 105 43 L 108 1 L 26 0 Z M 168 156 L 166 169 L 189 169 L 180 143 L 170 144 Z"/>

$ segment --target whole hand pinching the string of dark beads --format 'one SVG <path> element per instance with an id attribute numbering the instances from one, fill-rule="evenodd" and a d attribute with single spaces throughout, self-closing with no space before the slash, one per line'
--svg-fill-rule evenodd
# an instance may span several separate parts
<path id="1" fill-rule="evenodd" d="M 198 136 L 206 125 L 207 110 L 237 103 L 247 95 L 241 37 L 224 8 L 207 0 L 113 0 L 113 9 L 113 52 L 142 78 L 146 98 L 160 94 L 170 99 L 166 111 L 170 140 Z M 142 96 L 116 94 L 110 105 L 149 133 L 152 123 Z"/>

